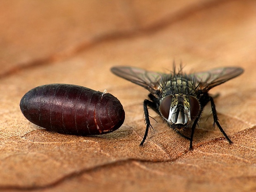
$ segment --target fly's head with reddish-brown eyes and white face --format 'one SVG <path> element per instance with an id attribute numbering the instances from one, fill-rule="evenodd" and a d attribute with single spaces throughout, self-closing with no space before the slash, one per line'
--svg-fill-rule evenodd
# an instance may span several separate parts
<path id="1" fill-rule="evenodd" d="M 187 126 L 197 117 L 200 104 L 194 96 L 175 94 L 164 97 L 159 109 L 166 121 L 179 129 Z"/>

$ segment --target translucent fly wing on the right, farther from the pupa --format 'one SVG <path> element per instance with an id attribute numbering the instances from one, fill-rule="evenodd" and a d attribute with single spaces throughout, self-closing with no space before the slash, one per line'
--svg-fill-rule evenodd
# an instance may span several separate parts
<path id="1" fill-rule="evenodd" d="M 203 92 L 208 92 L 211 88 L 239 76 L 243 71 L 239 67 L 223 67 L 210 71 L 191 73 L 189 76 L 196 81 L 199 89 Z"/>

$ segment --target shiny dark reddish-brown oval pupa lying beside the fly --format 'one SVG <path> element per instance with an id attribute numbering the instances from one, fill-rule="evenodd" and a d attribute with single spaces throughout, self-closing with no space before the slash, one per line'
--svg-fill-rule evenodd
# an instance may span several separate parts
<path id="1" fill-rule="evenodd" d="M 69 84 L 33 88 L 21 98 L 20 108 L 28 121 L 73 135 L 110 133 L 125 119 L 122 104 L 110 93 Z"/>

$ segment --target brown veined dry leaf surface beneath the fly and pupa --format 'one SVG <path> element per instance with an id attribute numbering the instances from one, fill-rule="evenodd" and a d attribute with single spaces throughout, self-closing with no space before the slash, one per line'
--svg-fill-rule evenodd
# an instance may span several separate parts
<path id="1" fill-rule="evenodd" d="M 1 191 L 256 191 L 255 0 L 9 0 L 0 13 Z M 159 123 L 139 147 L 148 92 L 109 69 L 167 72 L 173 60 L 186 72 L 245 69 L 211 90 L 233 145 L 206 107 L 194 151 L 152 110 Z M 78 137 L 33 125 L 19 101 L 48 83 L 106 89 L 123 104 L 123 126 Z"/>

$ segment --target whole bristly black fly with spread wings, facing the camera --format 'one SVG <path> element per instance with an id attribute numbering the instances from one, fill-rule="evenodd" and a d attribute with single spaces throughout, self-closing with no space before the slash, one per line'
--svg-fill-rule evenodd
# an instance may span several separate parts
<path id="1" fill-rule="evenodd" d="M 128 66 L 111 68 L 117 76 L 140 85 L 150 92 L 148 95 L 150 100 L 144 100 L 146 130 L 140 145 L 143 145 L 149 128 L 152 128 L 148 112 L 150 107 L 164 119 L 169 127 L 190 140 L 190 149 L 192 149 L 194 130 L 208 102 L 211 103 L 213 126 L 216 124 L 228 142 L 232 143 L 218 122 L 214 100 L 208 92 L 211 88 L 239 76 L 244 70 L 239 67 L 223 67 L 185 74 L 181 69 L 182 67 L 177 72 L 174 66 L 173 72 L 167 74 Z M 183 130 L 187 128 L 191 128 L 190 137 L 183 134 Z"/>

